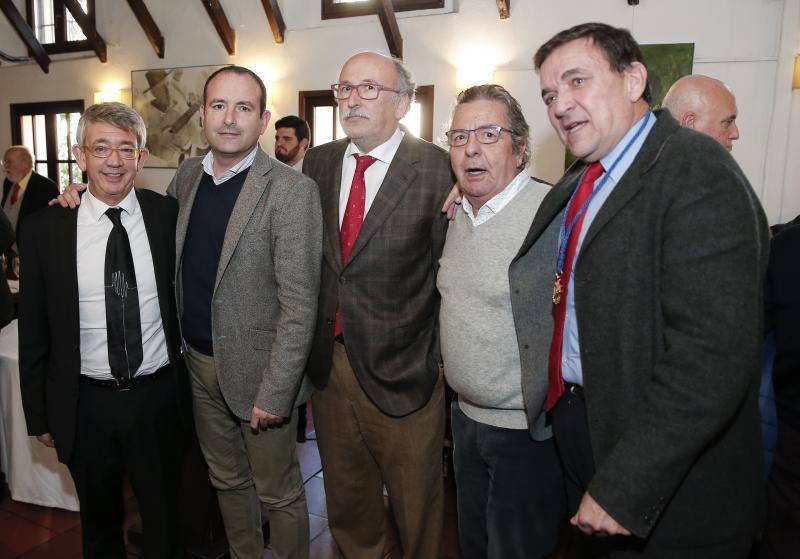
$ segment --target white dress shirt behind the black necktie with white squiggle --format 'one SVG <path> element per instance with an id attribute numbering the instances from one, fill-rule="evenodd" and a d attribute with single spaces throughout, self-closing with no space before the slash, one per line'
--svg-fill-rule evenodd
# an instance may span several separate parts
<path id="1" fill-rule="evenodd" d="M 108 363 L 106 334 L 105 262 L 106 245 L 113 225 L 105 215 L 107 206 L 88 190 L 78 207 L 78 310 L 80 314 L 81 374 L 113 380 Z M 139 294 L 142 322 L 142 364 L 136 376 L 154 373 L 169 363 L 167 340 L 158 306 L 158 289 L 150 242 L 136 193 L 131 190 L 118 206 L 128 232 Z"/>

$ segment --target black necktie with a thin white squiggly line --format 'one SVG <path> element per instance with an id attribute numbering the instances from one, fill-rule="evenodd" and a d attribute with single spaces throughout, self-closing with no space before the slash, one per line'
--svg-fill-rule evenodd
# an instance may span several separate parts
<path id="1" fill-rule="evenodd" d="M 108 363 L 114 378 L 127 379 L 133 378 L 142 364 L 142 324 L 131 243 L 121 214 L 121 208 L 106 210 L 114 227 L 106 245 L 104 277 Z"/>

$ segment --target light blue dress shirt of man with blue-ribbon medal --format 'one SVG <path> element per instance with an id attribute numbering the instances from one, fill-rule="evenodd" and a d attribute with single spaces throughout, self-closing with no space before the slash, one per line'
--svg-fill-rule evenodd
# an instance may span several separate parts
<path id="1" fill-rule="evenodd" d="M 636 138 L 636 141 L 631 144 L 628 152 L 620 159 L 619 163 L 617 163 L 617 166 L 603 185 L 603 188 L 592 199 L 589 207 L 586 208 L 586 216 L 583 218 L 581 234 L 580 237 L 578 237 L 578 246 L 575 250 L 576 259 L 580 256 L 581 246 L 583 245 L 584 237 L 586 237 L 586 232 L 592 226 L 592 222 L 594 218 L 597 217 L 600 208 L 603 207 L 603 204 L 605 204 L 608 197 L 614 191 L 614 188 L 633 164 L 633 160 L 636 159 L 639 150 L 641 150 L 642 145 L 644 145 L 645 139 L 656 123 L 656 117 L 648 111 L 645 116 L 639 119 L 636 124 L 628 130 L 628 133 L 614 146 L 614 149 L 612 149 L 608 155 L 600 159 L 603 169 L 609 169 L 625 149 L 625 146 L 628 145 L 628 142 L 636 135 L 636 131 L 639 129 L 644 119 L 648 120 L 644 125 L 642 133 Z M 595 185 L 599 185 L 604 176 L 605 173 L 597 179 Z M 573 270 L 576 269 L 575 264 L 580 265 L 580 262 L 573 263 Z M 575 284 L 573 278 L 574 275 L 570 275 L 569 286 L 567 287 L 567 314 L 564 319 L 564 342 L 561 347 L 561 374 L 564 378 L 564 382 L 571 382 L 583 386 L 583 367 L 581 366 L 581 347 L 578 340 L 578 316 L 575 312 Z"/>

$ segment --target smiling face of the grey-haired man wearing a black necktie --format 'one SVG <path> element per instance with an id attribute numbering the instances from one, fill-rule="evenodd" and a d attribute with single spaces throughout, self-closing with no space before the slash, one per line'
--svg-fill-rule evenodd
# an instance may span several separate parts
<path id="1" fill-rule="evenodd" d="M 108 146 L 112 148 L 138 148 L 136 134 L 105 122 L 94 122 L 86 128 L 84 145 Z M 142 149 L 136 159 L 122 159 L 119 151 L 105 158 L 95 157 L 88 149 L 74 146 L 72 153 L 81 171 L 89 176 L 89 192 L 108 206 L 119 204 L 133 188 L 133 179 L 147 159 L 147 150 Z"/>

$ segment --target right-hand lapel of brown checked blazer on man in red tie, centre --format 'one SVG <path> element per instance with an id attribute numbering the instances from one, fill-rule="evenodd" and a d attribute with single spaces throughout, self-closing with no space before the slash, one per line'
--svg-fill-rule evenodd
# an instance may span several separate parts
<path id="1" fill-rule="evenodd" d="M 383 179 L 378 194 L 369 212 L 364 216 L 364 224 L 361 226 L 361 231 L 356 237 L 356 242 L 353 249 L 350 251 L 349 262 L 352 262 L 358 253 L 366 246 L 373 235 L 380 229 L 383 222 L 391 215 L 397 208 L 400 200 L 408 190 L 417 176 L 417 170 L 414 165 L 419 161 L 419 155 L 413 140 L 410 140 L 410 133 L 406 132 L 403 141 L 397 148 L 392 158 L 392 163 L 386 171 L 386 177 Z M 345 265 L 346 267 L 346 265 Z"/>

